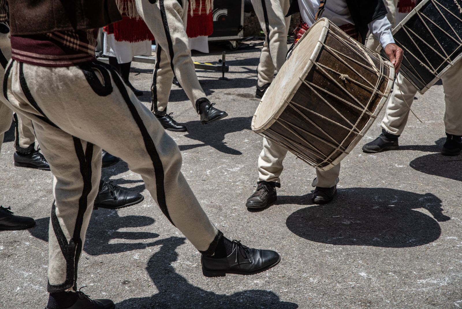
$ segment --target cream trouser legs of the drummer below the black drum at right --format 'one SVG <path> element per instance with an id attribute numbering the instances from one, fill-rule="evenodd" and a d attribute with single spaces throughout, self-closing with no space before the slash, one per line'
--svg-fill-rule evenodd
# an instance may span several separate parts
<path id="1" fill-rule="evenodd" d="M 444 112 L 446 133 L 462 136 L 462 61 L 448 69 L 441 80 L 446 105 Z M 417 89 L 411 82 L 398 74 L 382 120 L 384 130 L 394 135 L 401 135 L 416 94 Z"/>

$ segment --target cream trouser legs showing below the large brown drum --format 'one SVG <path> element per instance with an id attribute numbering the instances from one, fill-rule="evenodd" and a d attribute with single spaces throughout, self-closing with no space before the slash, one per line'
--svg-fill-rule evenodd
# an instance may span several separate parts
<path id="1" fill-rule="evenodd" d="M 280 175 L 284 169 L 282 161 L 287 149 L 263 138 L 263 150 L 258 158 L 258 181 L 274 181 L 280 183 Z M 311 183 L 314 187 L 331 188 L 339 182 L 340 163 L 327 171 L 316 169 L 316 178 Z"/>

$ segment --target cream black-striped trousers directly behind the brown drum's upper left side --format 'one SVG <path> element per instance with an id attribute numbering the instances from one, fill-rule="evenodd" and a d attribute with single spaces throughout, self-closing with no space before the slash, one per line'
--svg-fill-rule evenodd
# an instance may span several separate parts
<path id="1" fill-rule="evenodd" d="M 290 17 L 285 17 L 289 10 L 289 0 L 252 0 L 252 5 L 265 33 L 261 49 L 260 62 L 257 67 L 258 87 L 271 83 L 274 70 L 279 71 L 286 61 L 287 31 Z"/>

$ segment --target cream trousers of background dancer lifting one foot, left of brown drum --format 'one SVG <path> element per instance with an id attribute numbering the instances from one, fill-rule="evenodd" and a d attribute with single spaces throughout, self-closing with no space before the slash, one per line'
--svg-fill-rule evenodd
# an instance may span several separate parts
<path id="1" fill-rule="evenodd" d="M 188 0 L 136 0 L 138 12 L 156 39 L 151 110 L 158 115 L 166 113 L 174 76 L 194 109 L 197 99 L 206 97 L 197 79 L 188 46 L 188 3 Z"/>

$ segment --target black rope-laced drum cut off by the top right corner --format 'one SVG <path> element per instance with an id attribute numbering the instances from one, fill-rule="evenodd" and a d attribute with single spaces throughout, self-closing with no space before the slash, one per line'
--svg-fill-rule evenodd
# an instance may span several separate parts
<path id="1" fill-rule="evenodd" d="M 462 57 L 462 0 L 420 2 L 393 29 L 393 37 L 404 50 L 400 73 L 425 93 Z"/>

